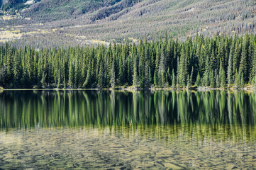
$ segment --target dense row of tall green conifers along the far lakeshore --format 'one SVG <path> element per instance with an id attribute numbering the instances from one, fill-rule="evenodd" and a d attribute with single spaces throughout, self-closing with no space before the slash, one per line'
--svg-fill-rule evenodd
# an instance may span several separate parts
<path id="1" fill-rule="evenodd" d="M 140 40 L 108 47 L 35 50 L 0 47 L 0 86 L 11 88 L 109 88 L 134 86 L 240 88 L 256 85 L 256 35 L 196 35 Z"/>

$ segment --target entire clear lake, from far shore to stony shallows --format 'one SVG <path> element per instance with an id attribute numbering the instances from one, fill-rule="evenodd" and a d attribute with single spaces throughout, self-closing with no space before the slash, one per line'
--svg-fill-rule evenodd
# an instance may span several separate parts
<path id="1" fill-rule="evenodd" d="M 0 169 L 256 169 L 256 92 L 1 91 Z"/>

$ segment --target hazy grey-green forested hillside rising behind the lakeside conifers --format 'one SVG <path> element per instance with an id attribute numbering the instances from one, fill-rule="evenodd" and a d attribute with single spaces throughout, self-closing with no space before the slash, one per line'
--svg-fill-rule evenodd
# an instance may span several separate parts
<path id="1" fill-rule="evenodd" d="M 20 0 L 12 0 L 20 1 Z M 30 1 L 31 2 L 31 1 Z M 4 4 L 0 42 L 16 47 L 75 47 L 138 43 L 165 33 L 186 40 L 196 34 L 255 33 L 254 0 L 24 0 Z M 7 6 L 13 6 L 6 8 Z M 16 10 L 13 10 L 16 9 Z M 12 11 L 12 12 L 10 12 Z"/>

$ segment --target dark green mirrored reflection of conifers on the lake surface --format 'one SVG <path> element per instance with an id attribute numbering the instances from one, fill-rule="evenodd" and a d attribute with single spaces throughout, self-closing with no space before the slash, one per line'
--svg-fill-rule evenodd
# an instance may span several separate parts
<path id="1" fill-rule="evenodd" d="M 177 130 L 174 126 L 179 125 L 196 133 L 214 134 L 224 130 L 247 136 L 254 132 L 256 123 L 255 94 L 244 91 L 4 91 L 0 94 L 0 125 L 5 129 L 143 127 L 144 131 L 155 126 Z"/>

